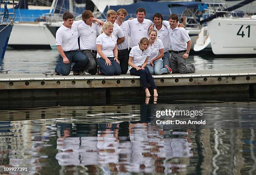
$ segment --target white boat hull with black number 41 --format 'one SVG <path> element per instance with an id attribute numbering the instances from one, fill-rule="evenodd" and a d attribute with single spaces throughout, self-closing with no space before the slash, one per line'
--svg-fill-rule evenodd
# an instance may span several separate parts
<path id="1" fill-rule="evenodd" d="M 215 55 L 256 54 L 256 20 L 215 18 L 207 22 Z"/>

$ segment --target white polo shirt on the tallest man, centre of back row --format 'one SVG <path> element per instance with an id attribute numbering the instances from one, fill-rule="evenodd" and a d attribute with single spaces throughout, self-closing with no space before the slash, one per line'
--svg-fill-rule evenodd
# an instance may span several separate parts
<path id="1" fill-rule="evenodd" d="M 138 42 L 143 37 L 148 37 L 148 29 L 153 24 L 151 20 L 144 19 L 142 23 L 138 22 L 137 18 L 127 20 L 131 31 L 130 47 L 138 45 Z"/>

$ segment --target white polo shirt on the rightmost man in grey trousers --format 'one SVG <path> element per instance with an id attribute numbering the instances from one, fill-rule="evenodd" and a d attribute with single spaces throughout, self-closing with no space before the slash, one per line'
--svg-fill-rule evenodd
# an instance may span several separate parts
<path id="1" fill-rule="evenodd" d="M 187 42 L 190 39 L 186 29 L 184 28 L 175 28 L 169 30 L 169 36 L 171 39 L 172 50 L 180 51 L 180 50 L 187 50 Z"/>

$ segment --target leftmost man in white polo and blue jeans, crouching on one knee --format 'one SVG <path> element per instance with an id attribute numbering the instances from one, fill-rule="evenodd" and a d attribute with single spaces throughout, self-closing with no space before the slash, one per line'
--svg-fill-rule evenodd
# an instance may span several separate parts
<path id="1" fill-rule="evenodd" d="M 88 58 L 81 51 L 78 46 L 78 32 L 77 26 L 83 23 L 82 20 L 74 22 L 74 16 L 70 12 L 65 12 L 62 16 L 64 23 L 56 32 L 56 47 L 59 51 L 59 62 L 55 67 L 57 75 L 69 75 L 71 64 L 73 74 L 79 75 L 79 71 L 83 70 L 88 63 Z"/>

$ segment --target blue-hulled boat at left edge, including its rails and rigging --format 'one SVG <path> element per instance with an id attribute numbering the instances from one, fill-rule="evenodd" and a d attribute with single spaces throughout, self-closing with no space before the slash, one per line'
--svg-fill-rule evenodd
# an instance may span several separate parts
<path id="1" fill-rule="evenodd" d="M 0 66 L 3 62 L 3 57 L 5 55 L 5 50 L 8 44 L 8 40 L 10 37 L 10 33 L 13 29 L 13 18 L 10 16 L 11 14 L 8 12 L 6 0 L 1 0 L 4 3 L 4 12 L 0 12 L 1 20 L 0 20 Z M 0 3 L 1 3 L 0 2 Z M 14 15 L 14 13 L 12 13 Z M 3 15 L 3 17 L 2 17 Z M 3 20 L 2 20 L 3 19 Z"/>

